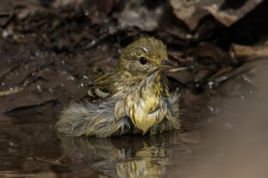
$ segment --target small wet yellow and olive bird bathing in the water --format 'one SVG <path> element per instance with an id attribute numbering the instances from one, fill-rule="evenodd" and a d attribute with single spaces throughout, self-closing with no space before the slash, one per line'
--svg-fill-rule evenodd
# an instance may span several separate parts
<path id="1" fill-rule="evenodd" d="M 142 37 L 126 46 L 118 67 L 93 82 L 93 101 L 74 103 L 61 112 L 56 129 L 70 136 L 108 137 L 121 134 L 158 134 L 179 129 L 179 94 L 169 93 L 166 45 Z"/>

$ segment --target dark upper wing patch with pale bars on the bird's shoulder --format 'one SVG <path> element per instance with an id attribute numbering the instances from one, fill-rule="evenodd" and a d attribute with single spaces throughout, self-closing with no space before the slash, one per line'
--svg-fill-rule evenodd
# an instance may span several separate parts
<path id="1" fill-rule="evenodd" d="M 93 99 L 103 99 L 115 93 L 114 78 L 112 74 L 106 74 L 97 78 L 87 91 L 88 96 Z"/>

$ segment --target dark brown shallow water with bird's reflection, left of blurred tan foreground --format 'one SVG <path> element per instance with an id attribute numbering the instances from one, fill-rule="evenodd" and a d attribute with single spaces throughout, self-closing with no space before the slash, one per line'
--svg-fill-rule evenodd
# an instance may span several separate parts
<path id="1" fill-rule="evenodd" d="M 185 119 L 208 113 L 203 97 L 193 101 Z M 189 109 L 191 103 L 182 102 Z M 19 115 L 20 122 L 0 125 L 0 177 L 170 177 L 174 170 L 185 172 L 201 148 L 192 125 L 155 136 L 71 138 L 55 133 L 55 119 Z"/>

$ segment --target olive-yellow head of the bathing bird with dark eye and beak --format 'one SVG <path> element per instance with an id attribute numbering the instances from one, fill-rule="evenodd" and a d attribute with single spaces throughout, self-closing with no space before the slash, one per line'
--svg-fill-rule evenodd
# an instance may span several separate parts
<path id="1" fill-rule="evenodd" d="M 166 45 L 154 37 L 142 37 L 126 46 L 120 55 L 119 69 L 135 77 L 172 68 L 167 61 Z"/>

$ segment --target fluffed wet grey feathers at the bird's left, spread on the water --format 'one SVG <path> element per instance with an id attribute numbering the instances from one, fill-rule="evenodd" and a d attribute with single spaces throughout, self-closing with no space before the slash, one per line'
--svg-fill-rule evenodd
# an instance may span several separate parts
<path id="1" fill-rule="evenodd" d="M 70 136 L 96 135 L 107 137 L 116 133 L 119 128 L 123 132 L 127 122 L 116 120 L 114 107 L 116 101 L 102 103 L 75 103 L 61 113 L 56 129 L 61 134 Z M 128 125 L 127 125 L 128 127 Z"/>

